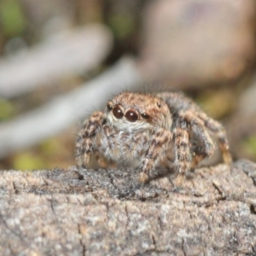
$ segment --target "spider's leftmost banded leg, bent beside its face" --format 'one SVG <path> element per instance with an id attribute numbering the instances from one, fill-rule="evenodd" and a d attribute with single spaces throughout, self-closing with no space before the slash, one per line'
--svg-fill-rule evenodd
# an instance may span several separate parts
<path id="1" fill-rule="evenodd" d="M 79 131 L 77 138 L 75 156 L 78 166 L 87 166 L 90 161 L 90 154 L 93 152 L 97 132 L 102 128 L 105 121 L 104 113 L 96 111 L 86 119 L 83 128 Z"/>

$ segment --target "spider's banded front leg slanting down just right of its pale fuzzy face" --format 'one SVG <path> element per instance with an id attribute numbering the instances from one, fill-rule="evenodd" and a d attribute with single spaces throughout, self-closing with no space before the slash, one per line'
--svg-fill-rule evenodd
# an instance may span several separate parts
<path id="1" fill-rule="evenodd" d="M 146 150 L 141 164 L 139 166 L 140 175 L 139 182 L 147 183 L 150 178 L 150 171 L 159 166 L 160 160 L 165 155 L 165 151 L 170 147 L 172 141 L 172 132 L 159 128 L 151 137 L 148 149 Z"/>

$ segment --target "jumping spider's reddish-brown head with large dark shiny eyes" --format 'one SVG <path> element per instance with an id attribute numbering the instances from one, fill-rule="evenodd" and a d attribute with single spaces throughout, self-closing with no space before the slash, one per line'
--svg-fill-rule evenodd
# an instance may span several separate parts
<path id="1" fill-rule="evenodd" d="M 157 97 L 124 92 L 107 105 L 110 125 L 120 130 L 155 129 L 170 130 L 172 117 L 166 103 Z"/>

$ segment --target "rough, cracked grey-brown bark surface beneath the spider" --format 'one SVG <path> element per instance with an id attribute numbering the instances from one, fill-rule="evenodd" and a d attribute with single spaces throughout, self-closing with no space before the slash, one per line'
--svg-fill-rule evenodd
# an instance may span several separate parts
<path id="1" fill-rule="evenodd" d="M 0 172 L 0 255 L 256 255 L 255 163 L 137 176 Z"/>

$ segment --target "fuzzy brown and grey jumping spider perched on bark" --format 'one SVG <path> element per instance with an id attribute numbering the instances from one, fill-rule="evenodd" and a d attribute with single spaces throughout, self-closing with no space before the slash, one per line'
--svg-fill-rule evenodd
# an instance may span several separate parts
<path id="1" fill-rule="evenodd" d="M 231 163 L 223 126 L 211 119 L 182 93 L 154 95 L 123 92 L 84 121 L 76 143 L 78 166 L 87 166 L 90 154 L 114 161 L 140 160 L 139 181 L 147 183 L 159 167 L 177 174 L 194 169 L 212 155 L 211 131 L 225 163 Z"/>

